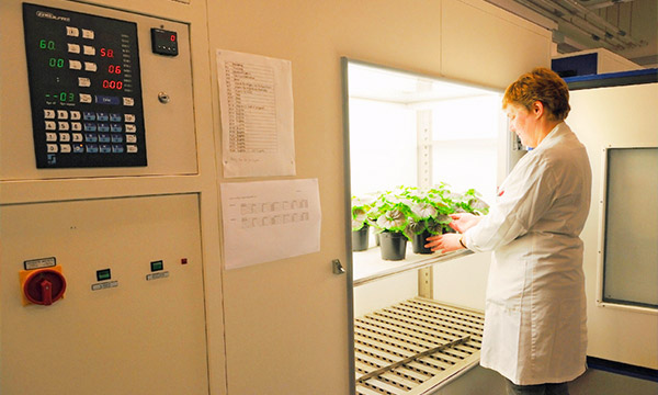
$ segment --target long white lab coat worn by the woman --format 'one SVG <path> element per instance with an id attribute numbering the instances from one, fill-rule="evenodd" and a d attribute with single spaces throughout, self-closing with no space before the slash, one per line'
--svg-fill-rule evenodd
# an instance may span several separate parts
<path id="1" fill-rule="evenodd" d="M 498 202 L 464 234 L 494 250 L 480 364 L 518 385 L 561 383 L 585 372 L 582 240 L 591 168 L 569 126 L 557 125 L 517 163 Z"/>

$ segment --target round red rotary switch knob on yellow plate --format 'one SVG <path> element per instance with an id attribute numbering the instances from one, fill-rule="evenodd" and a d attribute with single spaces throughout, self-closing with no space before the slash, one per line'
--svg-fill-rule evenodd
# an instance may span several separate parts
<path id="1" fill-rule="evenodd" d="M 57 268 L 59 269 L 59 268 Z M 66 280 L 56 268 L 30 271 L 23 281 L 23 294 L 34 304 L 49 306 L 66 291 Z"/>

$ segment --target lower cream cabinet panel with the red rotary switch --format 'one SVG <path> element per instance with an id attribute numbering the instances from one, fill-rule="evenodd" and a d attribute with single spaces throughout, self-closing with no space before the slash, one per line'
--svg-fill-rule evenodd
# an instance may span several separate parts
<path id="1" fill-rule="evenodd" d="M 207 394 L 197 198 L 3 206 L 0 392 Z"/>

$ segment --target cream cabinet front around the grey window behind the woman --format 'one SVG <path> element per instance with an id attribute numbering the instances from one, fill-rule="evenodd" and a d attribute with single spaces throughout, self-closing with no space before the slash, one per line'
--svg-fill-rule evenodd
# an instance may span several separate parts
<path id="1" fill-rule="evenodd" d="M 585 241 L 588 354 L 657 369 L 658 314 L 602 307 L 597 304 L 597 298 L 602 148 L 658 146 L 658 84 L 578 90 L 571 92 L 570 104 L 572 110 L 566 122 L 586 145 L 592 166 L 592 205 L 580 236 Z M 642 229 L 637 229 L 638 242 L 656 242 L 643 240 L 642 235 Z"/>

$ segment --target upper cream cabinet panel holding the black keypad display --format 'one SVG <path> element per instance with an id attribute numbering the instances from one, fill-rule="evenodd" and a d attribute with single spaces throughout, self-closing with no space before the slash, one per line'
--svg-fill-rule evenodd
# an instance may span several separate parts
<path id="1" fill-rule="evenodd" d="M 3 20 L 1 180 L 197 173 L 188 23 L 63 0 Z"/>

